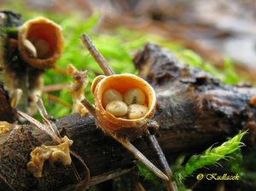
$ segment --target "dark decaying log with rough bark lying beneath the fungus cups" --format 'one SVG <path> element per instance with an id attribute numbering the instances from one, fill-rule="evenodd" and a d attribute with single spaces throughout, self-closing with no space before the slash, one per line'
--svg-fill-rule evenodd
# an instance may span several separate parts
<path id="1" fill-rule="evenodd" d="M 150 43 L 137 53 L 134 62 L 157 93 L 154 120 L 160 124 L 160 130 L 156 136 L 167 156 L 201 151 L 238 130 L 255 129 L 256 107 L 249 102 L 256 89 L 224 85 Z M 96 128 L 92 116 L 81 118 L 73 114 L 56 119 L 55 123 L 62 132 L 66 131 L 73 140 L 72 150 L 88 165 L 90 185 L 134 169 L 131 153 Z M 61 190 L 74 183 L 72 175 L 68 175 L 70 169 L 63 166 L 45 164 L 44 177 L 38 179 L 26 170 L 30 152 L 42 142 L 44 138 L 33 132 L 32 125 L 16 126 L 0 147 L 0 188 L 5 182 L 15 190 Z M 154 161 L 154 153 L 143 137 L 133 143 Z M 77 165 L 75 161 L 74 164 Z M 83 177 L 83 172 L 79 174 Z"/>

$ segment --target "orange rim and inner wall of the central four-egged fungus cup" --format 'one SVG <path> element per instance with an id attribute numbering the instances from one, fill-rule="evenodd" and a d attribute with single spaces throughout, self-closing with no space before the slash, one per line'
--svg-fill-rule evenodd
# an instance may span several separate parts
<path id="1" fill-rule="evenodd" d="M 99 110 L 103 110 L 104 114 L 108 113 L 102 105 L 102 96 L 104 92 L 108 89 L 118 90 L 119 93 L 124 94 L 127 90 L 131 90 L 133 88 L 138 88 L 143 90 L 146 96 L 146 106 L 148 107 L 148 113 L 146 113 L 143 118 L 140 119 L 122 119 L 113 116 L 113 114 L 108 113 L 111 118 L 119 119 L 122 121 L 137 121 L 141 119 L 149 119 L 154 114 L 154 109 L 156 105 L 156 97 L 153 88 L 145 81 L 143 78 L 139 78 L 133 74 L 117 74 L 113 76 L 109 76 L 103 78 L 100 82 L 98 82 L 95 92 L 96 98 L 96 106 L 99 107 Z M 103 114 L 103 113 L 102 113 Z M 111 119 L 110 118 L 110 119 Z"/>

